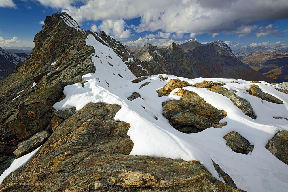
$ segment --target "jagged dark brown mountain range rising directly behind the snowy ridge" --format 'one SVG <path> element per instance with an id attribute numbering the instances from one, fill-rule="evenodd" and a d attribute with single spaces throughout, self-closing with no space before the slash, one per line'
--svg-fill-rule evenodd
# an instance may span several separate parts
<path id="1" fill-rule="evenodd" d="M 127 46 L 126 48 L 130 49 Z M 133 56 L 140 61 L 155 63 L 154 66 L 158 63 L 168 73 L 179 77 L 221 77 L 274 82 L 241 62 L 221 40 L 202 44 L 193 39 L 182 45 L 172 43 L 169 47 L 160 49 L 146 44 Z"/>

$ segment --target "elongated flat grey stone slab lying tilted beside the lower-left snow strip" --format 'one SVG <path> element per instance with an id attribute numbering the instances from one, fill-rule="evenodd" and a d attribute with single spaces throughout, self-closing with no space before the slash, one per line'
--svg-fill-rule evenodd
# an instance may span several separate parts
<path id="1" fill-rule="evenodd" d="M 28 140 L 22 141 L 17 146 L 18 148 L 13 152 L 17 157 L 21 157 L 42 145 L 50 136 L 49 132 L 42 130 L 33 135 Z"/>

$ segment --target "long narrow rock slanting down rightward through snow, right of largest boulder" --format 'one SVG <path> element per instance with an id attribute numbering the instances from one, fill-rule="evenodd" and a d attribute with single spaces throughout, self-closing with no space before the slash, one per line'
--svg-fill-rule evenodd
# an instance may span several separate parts
<path id="1" fill-rule="evenodd" d="M 256 119 L 256 116 L 254 115 L 253 112 L 253 107 L 251 106 L 249 101 L 237 96 L 235 90 L 228 90 L 219 85 L 214 85 L 208 90 L 222 94 L 225 97 L 228 97 L 239 109 L 241 109 L 241 111 L 243 111 L 243 113 L 245 113 L 245 115 L 248 115 L 252 119 Z"/>

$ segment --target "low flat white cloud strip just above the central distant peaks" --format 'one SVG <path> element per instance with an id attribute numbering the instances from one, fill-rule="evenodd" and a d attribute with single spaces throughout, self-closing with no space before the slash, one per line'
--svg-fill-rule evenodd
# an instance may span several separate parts
<path id="1" fill-rule="evenodd" d="M 173 42 L 177 44 L 183 44 L 186 41 L 175 41 L 173 39 L 156 39 L 156 38 L 148 39 L 148 38 L 139 37 L 139 39 L 135 41 L 128 41 L 124 43 L 124 45 L 127 45 L 128 47 L 143 47 L 146 43 L 149 43 L 157 47 L 168 47 Z"/>

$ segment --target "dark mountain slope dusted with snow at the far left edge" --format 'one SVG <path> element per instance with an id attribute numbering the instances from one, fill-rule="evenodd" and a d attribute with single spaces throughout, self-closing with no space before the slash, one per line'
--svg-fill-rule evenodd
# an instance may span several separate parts
<path id="1" fill-rule="evenodd" d="M 26 59 L 25 53 L 11 53 L 0 47 L 0 80 L 10 75 L 18 62 Z"/>

